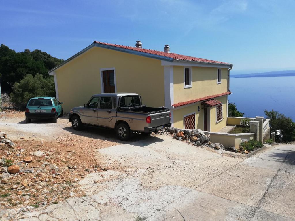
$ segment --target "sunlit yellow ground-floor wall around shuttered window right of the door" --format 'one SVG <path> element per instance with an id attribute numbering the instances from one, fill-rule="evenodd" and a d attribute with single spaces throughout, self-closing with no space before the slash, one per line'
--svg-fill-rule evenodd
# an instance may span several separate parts
<path id="1" fill-rule="evenodd" d="M 226 126 L 227 122 L 227 96 L 222 96 L 219 98 L 214 98 L 222 102 L 222 117 L 223 120 L 216 122 L 216 106 L 210 108 L 210 131 L 219 131 L 221 128 Z"/>

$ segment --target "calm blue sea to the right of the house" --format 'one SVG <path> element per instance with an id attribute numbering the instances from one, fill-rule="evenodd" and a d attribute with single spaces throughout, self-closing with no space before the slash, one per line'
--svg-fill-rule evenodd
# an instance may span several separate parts
<path id="1" fill-rule="evenodd" d="M 230 103 L 244 117 L 264 116 L 276 110 L 295 121 L 295 76 L 230 78 Z"/>

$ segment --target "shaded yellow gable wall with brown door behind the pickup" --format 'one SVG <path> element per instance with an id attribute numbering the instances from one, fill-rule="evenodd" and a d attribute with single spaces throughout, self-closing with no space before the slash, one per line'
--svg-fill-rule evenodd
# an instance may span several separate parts
<path id="1" fill-rule="evenodd" d="M 117 92 L 138 93 L 148 106 L 165 105 L 160 60 L 93 47 L 55 70 L 64 111 L 84 105 L 93 94 L 101 93 L 101 68 L 115 68 Z"/>

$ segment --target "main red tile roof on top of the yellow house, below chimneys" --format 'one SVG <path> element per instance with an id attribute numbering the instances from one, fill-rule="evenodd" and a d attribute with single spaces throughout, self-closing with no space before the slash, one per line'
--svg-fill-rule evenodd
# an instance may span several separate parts
<path id="1" fill-rule="evenodd" d="M 179 54 L 176 54 L 176 53 L 167 53 L 167 52 L 163 52 L 163 51 L 156 51 L 156 50 L 150 50 L 150 49 L 145 49 L 145 48 L 137 48 L 137 47 L 124 46 L 124 45 L 119 45 L 119 44 L 110 44 L 110 43 L 105 43 L 105 42 L 96 42 L 96 41 L 94 41 L 94 43 L 104 44 L 104 45 L 109 45 L 109 46 L 114 46 L 114 47 L 134 50 L 134 51 L 139 51 L 139 52 L 150 53 L 150 54 L 153 54 L 153 55 L 160 55 L 160 56 L 170 57 L 170 58 L 173 58 L 173 59 L 176 59 L 176 60 L 186 60 L 186 61 L 196 61 L 196 62 L 204 62 L 204 63 L 231 65 L 229 63 L 221 62 L 221 61 L 208 60 L 208 59 L 203 59 L 203 58 L 198 58 L 198 57 L 191 57 L 191 56 L 186 56 L 186 55 L 179 55 Z"/>

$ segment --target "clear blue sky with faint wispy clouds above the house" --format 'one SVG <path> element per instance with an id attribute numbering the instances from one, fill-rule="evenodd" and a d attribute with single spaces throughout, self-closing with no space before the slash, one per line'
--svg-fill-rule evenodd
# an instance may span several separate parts
<path id="1" fill-rule="evenodd" d="M 67 59 L 94 40 L 230 62 L 232 73 L 295 69 L 295 1 L 2 1 L 0 43 Z"/>

